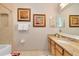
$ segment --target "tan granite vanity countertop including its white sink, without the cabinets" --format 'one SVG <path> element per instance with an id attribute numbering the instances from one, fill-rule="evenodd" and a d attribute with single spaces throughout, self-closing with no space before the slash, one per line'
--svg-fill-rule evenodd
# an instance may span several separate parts
<path id="1" fill-rule="evenodd" d="M 79 42 L 65 38 L 58 38 L 54 35 L 48 35 L 48 38 L 59 44 L 73 56 L 79 56 Z"/>

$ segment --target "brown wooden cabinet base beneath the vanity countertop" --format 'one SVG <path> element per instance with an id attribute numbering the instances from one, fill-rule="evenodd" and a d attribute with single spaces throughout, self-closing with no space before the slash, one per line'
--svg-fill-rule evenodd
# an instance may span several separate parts
<path id="1" fill-rule="evenodd" d="M 48 39 L 48 48 L 52 56 L 72 56 L 62 46 L 51 39 Z"/>

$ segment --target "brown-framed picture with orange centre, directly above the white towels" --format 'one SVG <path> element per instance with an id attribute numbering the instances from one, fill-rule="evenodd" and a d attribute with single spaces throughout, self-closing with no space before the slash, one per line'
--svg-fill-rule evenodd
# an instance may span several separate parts
<path id="1" fill-rule="evenodd" d="M 30 21 L 31 20 L 31 9 L 29 8 L 18 8 L 17 11 L 18 21 Z"/>

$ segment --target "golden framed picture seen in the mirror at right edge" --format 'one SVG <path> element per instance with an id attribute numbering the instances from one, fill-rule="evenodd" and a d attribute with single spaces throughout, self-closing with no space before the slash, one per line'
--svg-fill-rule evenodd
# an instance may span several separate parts
<path id="1" fill-rule="evenodd" d="M 79 15 L 70 15 L 69 16 L 69 26 L 70 27 L 79 27 Z"/>

